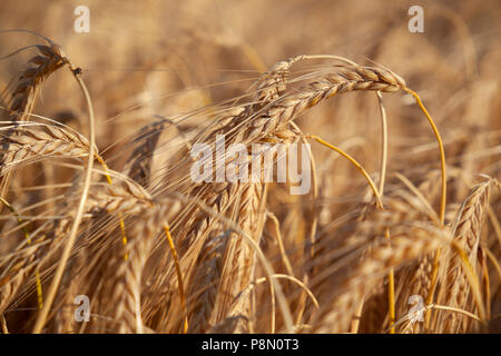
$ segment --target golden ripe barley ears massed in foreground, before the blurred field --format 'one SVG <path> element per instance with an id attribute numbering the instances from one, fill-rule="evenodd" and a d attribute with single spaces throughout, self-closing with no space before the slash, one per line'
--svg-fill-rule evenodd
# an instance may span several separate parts
<path id="1" fill-rule="evenodd" d="M 37 53 L 2 98 L 3 333 L 482 333 L 499 317 L 491 305 L 501 274 L 500 184 L 479 176 L 453 201 L 461 174 L 446 166 L 419 96 L 391 70 L 334 56 L 281 61 L 237 98 L 157 116 L 134 134 L 127 164 L 108 167 L 85 72 L 45 41 L 22 49 Z M 33 113 L 46 80 L 63 70 L 87 102 L 85 135 Z M 365 90 L 380 105 L 374 172 L 295 122 Z M 433 170 L 386 169 L 383 92 L 422 109 L 436 139 Z M 323 145 L 360 175 L 358 198 L 325 211 L 318 191 L 337 176 L 317 177 L 311 150 L 305 197 L 287 196 L 292 182 L 195 182 L 190 148 L 218 135 L 248 147 Z M 38 184 L 27 186 L 33 171 Z M 328 224 L 318 222 L 322 214 Z M 77 296 L 88 298 L 88 320 L 76 318 Z"/>

